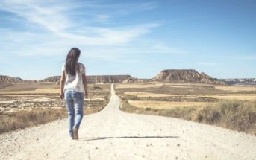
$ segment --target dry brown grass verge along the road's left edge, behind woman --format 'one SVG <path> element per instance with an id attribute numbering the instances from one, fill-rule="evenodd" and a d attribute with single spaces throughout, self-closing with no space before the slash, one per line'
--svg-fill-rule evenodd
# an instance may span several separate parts
<path id="1" fill-rule="evenodd" d="M 103 107 L 84 108 L 84 115 L 99 112 Z M 16 129 L 34 127 L 38 124 L 45 124 L 49 121 L 67 118 L 66 108 L 48 108 L 19 110 L 17 112 L 0 113 L 0 134 Z"/>

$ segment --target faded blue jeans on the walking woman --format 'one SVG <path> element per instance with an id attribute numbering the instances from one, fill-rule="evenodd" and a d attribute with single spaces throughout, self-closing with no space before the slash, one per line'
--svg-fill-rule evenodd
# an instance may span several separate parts
<path id="1" fill-rule="evenodd" d="M 68 112 L 69 135 L 73 137 L 73 127 L 79 129 L 84 115 L 84 93 L 65 90 L 66 109 Z"/>

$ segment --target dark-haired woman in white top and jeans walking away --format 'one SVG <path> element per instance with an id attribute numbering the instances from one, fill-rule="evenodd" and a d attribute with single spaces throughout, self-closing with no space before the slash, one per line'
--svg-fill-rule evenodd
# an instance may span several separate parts
<path id="1" fill-rule="evenodd" d="M 60 99 L 65 98 L 72 139 L 78 139 L 78 129 L 84 115 L 84 97 L 88 97 L 85 67 L 78 62 L 80 52 L 78 48 L 69 51 L 60 78 Z"/>

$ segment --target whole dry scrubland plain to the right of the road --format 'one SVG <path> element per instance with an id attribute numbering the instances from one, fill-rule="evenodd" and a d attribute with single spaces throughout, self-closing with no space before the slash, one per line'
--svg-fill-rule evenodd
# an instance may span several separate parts
<path id="1" fill-rule="evenodd" d="M 117 84 L 126 112 L 183 118 L 256 135 L 256 86 Z"/>

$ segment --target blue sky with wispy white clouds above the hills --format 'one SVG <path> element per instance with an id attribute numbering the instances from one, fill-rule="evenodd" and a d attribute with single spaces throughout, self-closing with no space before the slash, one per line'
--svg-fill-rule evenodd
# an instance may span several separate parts
<path id="1" fill-rule="evenodd" d="M 255 28 L 255 0 L 1 0 L 0 74 L 58 75 L 77 47 L 88 75 L 256 77 Z"/>

